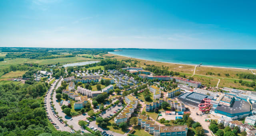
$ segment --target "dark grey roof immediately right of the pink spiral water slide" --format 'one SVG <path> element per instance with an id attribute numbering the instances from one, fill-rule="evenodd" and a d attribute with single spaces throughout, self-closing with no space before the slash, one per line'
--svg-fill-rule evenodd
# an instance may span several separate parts
<path id="1" fill-rule="evenodd" d="M 230 114 L 250 112 L 250 103 L 247 101 L 235 101 L 232 107 L 226 105 L 217 106 L 216 110 Z"/>

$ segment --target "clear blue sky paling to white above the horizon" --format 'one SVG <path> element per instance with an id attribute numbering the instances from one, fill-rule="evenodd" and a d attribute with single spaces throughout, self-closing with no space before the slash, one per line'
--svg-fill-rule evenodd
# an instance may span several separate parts
<path id="1" fill-rule="evenodd" d="M 256 1 L 1 0 L 1 47 L 256 49 Z"/>

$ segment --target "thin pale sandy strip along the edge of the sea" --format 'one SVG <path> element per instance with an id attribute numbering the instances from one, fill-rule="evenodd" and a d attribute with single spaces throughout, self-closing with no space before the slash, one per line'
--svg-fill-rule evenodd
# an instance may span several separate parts
<path id="1" fill-rule="evenodd" d="M 109 54 L 113 54 L 108 52 Z M 117 55 L 117 54 L 113 54 L 113 55 Z M 117 55 L 117 56 L 123 56 L 123 55 Z M 129 57 L 129 56 L 124 56 L 127 58 L 133 58 L 133 57 Z M 146 60 L 146 59 L 142 59 L 142 58 L 136 58 L 136 59 L 140 59 L 140 60 Z M 147 60 L 147 61 L 154 61 L 154 62 L 162 62 L 162 61 L 155 61 L 155 60 Z M 193 65 L 193 64 L 181 64 L 181 63 L 172 63 L 172 62 L 162 62 L 162 63 L 169 63 L 169 64 L 180 64 L 180 65 L 189 65 L 189 66 L 197 66 L 197 65 Z M 201 66 L 200 66 L 201 67 Z M 212 67 L 212 68 L 229 68 L 229 67 L 221 67 L 221 66 L 205 66 L 205 67 Z M 250 68 L 230 68 L 230 69 L 239 69 L 239 70 L 256 70 L 256 69 L 250 69 Z"/>

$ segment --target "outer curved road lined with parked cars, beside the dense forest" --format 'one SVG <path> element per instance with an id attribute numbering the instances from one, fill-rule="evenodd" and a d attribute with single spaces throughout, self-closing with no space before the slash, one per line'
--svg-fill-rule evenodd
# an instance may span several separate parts
<path id="1" fill-rule="evenodd" d="M 54 84 L 52 84 L 52 87 L 50 88 L 50 91 L 47 95 L 47 99 L 46 99 L 46 106 L 47 106 L 47 112 L 49 113 L 48 116 L 50 116 L 50 118 L 52 119 L 52 121 L 54 123 L 56 123 L 57 126 L 59 126 L 60 128 L 58 128 L 57 130 L 61 130 L 61 131 L 68 131 L 70 132 L 70 128 L 68 126 L 64 126 L 64 124 L 61 124 L 60 121 L 54 117 L 52 110 L 51 110 L 51 105 L 50 105 L 50 101 L 51 101 L 51 96 L 50 94 L 52 93 L 52 89 L 54 88 L 55 84 L 57 83 L 58 80 L 56 80 L 56 82 Z"/>

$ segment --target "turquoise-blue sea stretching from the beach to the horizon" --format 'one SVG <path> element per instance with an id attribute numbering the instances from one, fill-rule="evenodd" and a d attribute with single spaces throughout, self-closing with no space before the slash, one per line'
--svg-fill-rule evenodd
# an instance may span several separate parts
<path id="1" fill-rule="evenodd" d="M 136 49 L 110 53 L 160 62 L 256 69 L 256 50 Z"/>

